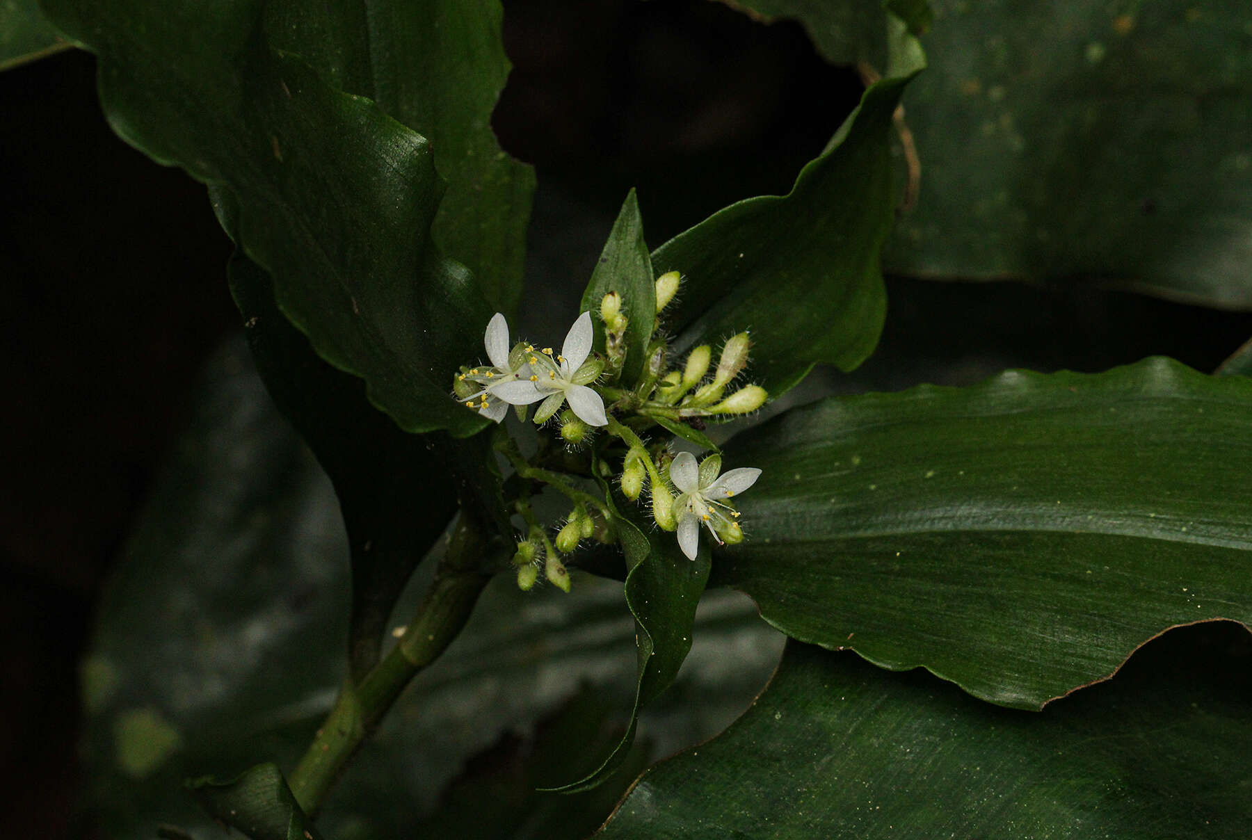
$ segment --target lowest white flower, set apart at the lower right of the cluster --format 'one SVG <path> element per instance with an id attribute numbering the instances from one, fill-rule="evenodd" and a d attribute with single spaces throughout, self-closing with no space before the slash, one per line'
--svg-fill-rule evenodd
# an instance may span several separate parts
<path id="1" fill-rule="evenodd" d="M 680 496 L 674 499 L 674 515 L 679 525 L 679 547 L 691 560 L 700 548 L 700 523 L 702 522 L 717 545 L 722 537 L 732 542 L 742 538 L 739 528 L 739 511 L 722 502 L 756 483 L 761 471 L 756 467 L 731 469 L 721 478 L 721 458 L 709 456 L 699 467 L 695 456 L 680 452 L 670 464 L 670 481 L 679 488 Z"/>

